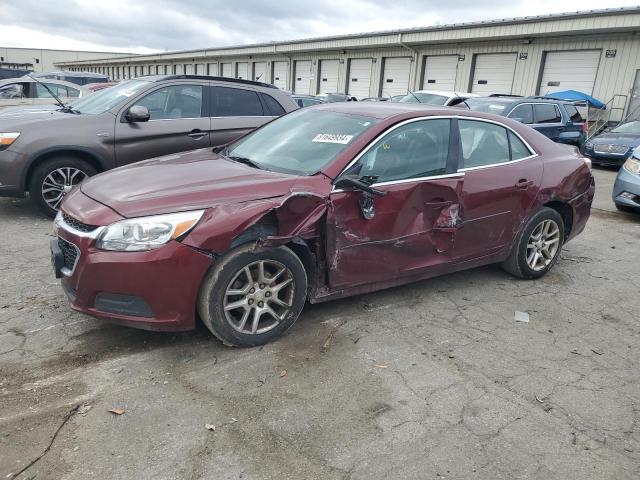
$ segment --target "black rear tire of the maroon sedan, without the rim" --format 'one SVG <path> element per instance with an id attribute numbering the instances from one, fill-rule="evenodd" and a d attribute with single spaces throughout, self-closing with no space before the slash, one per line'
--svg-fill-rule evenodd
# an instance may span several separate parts
<path id="1" fill-rule="evenodd" d="M 555 222 L 558 227 L 558 246 L 557 249 L 551 258 L 551 261 L 539 270 L 534 270 L 527 263 L 527 244 L 534 230 L 540 226 L 540 224 L 546 220 L 551 220 Z M 509 258 L 507 258 L 502 264 L 502 268 L 509 272 L 510 274 L 524 279 L 534 279 L 540 278 L 545 275 L 553 266 L 556 261 L 560 257 L 560 251 L 562 250 L 562 245 L 564 244 L 565 233 L 564 233 L 564 221 L 560 214 L 552 208 L 542 207 L 538 210 L 526 223 L 518 237 L 516 238 L 516 243 L 511 250 L 511 254 Z"/>

